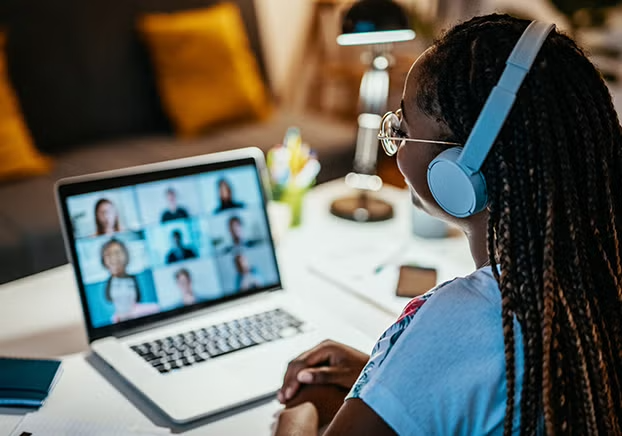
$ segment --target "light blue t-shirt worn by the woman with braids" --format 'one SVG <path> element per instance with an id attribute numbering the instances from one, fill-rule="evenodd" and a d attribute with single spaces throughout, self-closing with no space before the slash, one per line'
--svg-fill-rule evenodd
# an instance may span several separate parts
<path id="1" fill-rule="evenodd" d="M 514 434 L 523 351 L 516 338 Z M 348 398 L 399 435 L 502 435 L 507 400 L 501 293 L 490 267 L 412 300 L 380 337 Z"/>

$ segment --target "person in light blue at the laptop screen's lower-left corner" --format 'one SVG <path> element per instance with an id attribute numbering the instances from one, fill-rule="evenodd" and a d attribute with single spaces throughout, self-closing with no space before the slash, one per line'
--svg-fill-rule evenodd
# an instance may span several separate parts
<path id="1" fill-rule="evenodd" d="M 112 322 L 151 315 L 159 311 L 155 303 L 139 303 L 138 280 L 127 273 L 130 256 L 127 247 L 118 239 L 111 239 L 101 249 L 101 261 L 110 272 L 106 283 L 106 300 L 114 305 Z"/>

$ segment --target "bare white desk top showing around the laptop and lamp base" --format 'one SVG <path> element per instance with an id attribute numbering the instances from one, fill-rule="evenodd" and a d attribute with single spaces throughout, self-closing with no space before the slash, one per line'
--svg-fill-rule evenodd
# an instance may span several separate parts
<path id="1" fill-rule="evenodd" d="M 330 201 L 343 194 L 344 189 L 341 182 L 333 182 L 308 194 L 303 226 L 288 232 L 280 242 L 279 263 L 287 288 L 304 299 L 310 310 L 321 312 L 327 320 L 338 317 L 348 322 L 373 344 L 394 316 L 311 274 L 305 262 L 335 241 L 348 244 L 368 237 L 409 238 L 411 206 L 406 192 L 387 188 L 381 195 L 394 204 L 395 219 L 350 223 L 328 213 Z M 101 422 L 115 420 L 147 428 L 167 425 L 142 397 L 97 365 L 96 359 L 93 361 L 91 356 L 89 361 L 85 360 L 88 344 L 71 267 L 63 266 L 1 286 L 0 323 L 0 354 L 67 356 L 63 359 L 64 374 L 42 409 L 45 413 Z M 192 435 L 269 435 L 273 414 L 278 409 L 278 403 L 272 401 L 183 430 Z M 0 409 L 0 434 L 19 419 L 7 413 Z"/>

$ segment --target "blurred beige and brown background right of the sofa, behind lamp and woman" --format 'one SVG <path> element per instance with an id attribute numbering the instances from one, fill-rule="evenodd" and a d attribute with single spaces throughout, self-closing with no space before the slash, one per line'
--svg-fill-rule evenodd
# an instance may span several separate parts
<path id="1" fill-rule="evenodd" d="M 270 77 L 279 98 L 293 107 L 330 113 L 356 122 L 361 77 L 368 48 L 340 47 L 341 17 L 352 6 L 343 0 L 261 0 Z M 622 1 L 620 0 L 397 0 L 417 36 L 396 43 L 390 68 L 389 109 L 397 108 L 412 62 L 444 29 L 493 12 L 555 22 L 590 55 L 622 109 Z M 276 12 L 278 11 L 278 12 Z M 287 17 L 287 18 L 285 18 Z M 287 38 L 282 38 L 287 34 Z M 391 163 L 379 154 L 385 182 L 402 185 Z"/>

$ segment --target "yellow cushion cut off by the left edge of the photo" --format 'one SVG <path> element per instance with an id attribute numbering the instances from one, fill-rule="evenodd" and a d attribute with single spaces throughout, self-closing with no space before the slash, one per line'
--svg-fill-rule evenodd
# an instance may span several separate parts
<path id="1" fill-rule="evenodd" d="M 35 148 L 24 123 L 6 68 L 4 43 L 0 32 L 0 180 L 13 180 L 45 174 L 50 160 Z"/>

